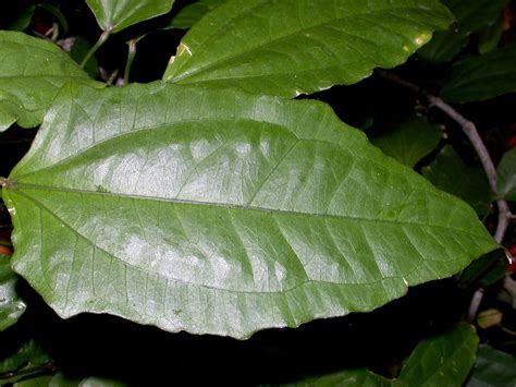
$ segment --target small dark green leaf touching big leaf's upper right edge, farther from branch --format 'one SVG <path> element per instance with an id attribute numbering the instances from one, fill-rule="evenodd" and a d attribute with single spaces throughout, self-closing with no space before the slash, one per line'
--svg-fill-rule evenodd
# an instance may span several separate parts
<path id="1" fill-rule="evenodd" d="M 439 125 L 425 118 L 413 117 L 394 129 L 371 138 L 385 155 L 413 168 L 421 158 L 435 149 L 441 140 Z"/>

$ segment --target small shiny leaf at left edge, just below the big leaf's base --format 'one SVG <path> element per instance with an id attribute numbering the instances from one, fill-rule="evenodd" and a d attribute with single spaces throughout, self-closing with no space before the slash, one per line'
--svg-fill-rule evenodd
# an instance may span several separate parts
<path id="1" fill-rule="evenodd" d="M 0 331 L 15 324 L 27 307 L 17 295 L 17 279 L 11 269 L 10 257 L 0 254 Z"/>

